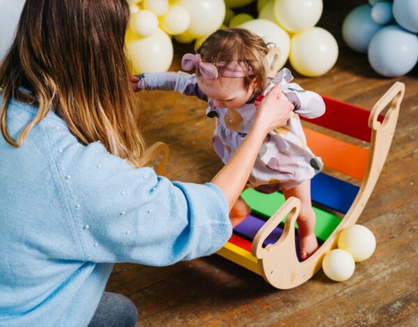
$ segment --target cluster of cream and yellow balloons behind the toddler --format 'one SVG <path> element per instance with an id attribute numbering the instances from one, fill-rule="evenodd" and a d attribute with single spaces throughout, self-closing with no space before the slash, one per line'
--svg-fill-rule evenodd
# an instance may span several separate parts
<path id="1" fill-rule="evenodd" d="M 235 15 L 234 8 L 255 0 L 130 0 L 132 19 L 127 31 L 128 56 L 134 73 L 166 71 L 173 59 L 170 36 L 199 47 L 219 28 L 239 26 L 274 43 L 281 51 L 279 68 L 289 59 L 309 77 L 327 73 L 338 57 L 334 37 L 315 24 L 322 0 L 258 0 L 258 17 Z"/>

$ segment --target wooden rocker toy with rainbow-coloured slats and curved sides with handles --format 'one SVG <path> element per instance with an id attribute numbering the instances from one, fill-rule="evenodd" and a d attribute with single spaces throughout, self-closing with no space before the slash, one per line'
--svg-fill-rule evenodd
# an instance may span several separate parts
<path id="1" fill-rule="evenodd" d="M 243 266 L 278 289 L 291 289 L 309 280 L 321 268 L 323 257 L 336 248 L 337 236 L 342 229 L 354 225 L 387 158 L 398 120 L 405 85 L 396 82 L 373 106 L 371 112 L 345 102 L 323 96 L 326 111 L 317 119 L 305 119 L 327 130 L 344 135 L 344 140 L 304 127 L 309 148 L 322 158 L 326 172 L 334 172 L 361 181 L 357 186 L 325 172 L 311 180 L 311 197 L 316 213 L 315 234 L 320 248 L 305 261 L 298 259 L 298 241 L 295 229 L 300 211 L 300 200 L 287 201 L 281 192 L 270 195 L 251 188 L 242 192 L 242 198 L 251 207 L 251 215 L 235 227 L 233 235 L 217 254 Z M 385 115 L 382 111 L 389 106 Z M 368 142 L 365 149 L 347 142 L 348 137 Z M 144 162 L 160 154 L 157 172 L 162 172 L 167 160 L 168 147 L 154 144 Z M 359 142 L 357 142 L 359 143 Z M 152 153 L 151 153 L 152 152 Z M 284 224 L 283 227 L 281 227 Z M 322 245 L 321 245 L 322 243 Z"/>

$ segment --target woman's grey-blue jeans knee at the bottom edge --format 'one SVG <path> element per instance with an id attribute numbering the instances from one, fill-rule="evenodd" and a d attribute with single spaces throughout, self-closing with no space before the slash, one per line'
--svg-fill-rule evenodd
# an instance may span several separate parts
<path id="1" fill-rule="evenodd" d="M 88 327 L 131 327 L 137 320 L 137 307 L 129 298 L 104 292 Z"/>

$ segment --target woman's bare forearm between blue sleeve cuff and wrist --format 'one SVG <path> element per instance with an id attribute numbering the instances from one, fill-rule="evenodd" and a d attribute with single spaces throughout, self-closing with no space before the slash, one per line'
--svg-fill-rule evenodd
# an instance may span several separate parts
<path id="1" fill-rule="evenodd" d="M 261 126 L 253 124 L 253 127 L 229 162 L 212 178 L 211 182 L 218 185 L 224 192 L 230 209 L 247 183 L 248 176 L 254 167 L 258 151 L 261 148 L 261 144 L 263 144 L 266 134 L 267 132 Z"/>

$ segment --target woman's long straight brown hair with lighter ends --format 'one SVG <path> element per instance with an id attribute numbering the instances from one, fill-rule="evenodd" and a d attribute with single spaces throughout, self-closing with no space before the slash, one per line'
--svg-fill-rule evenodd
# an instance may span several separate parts
<path id="1" fill-rule="evenodd" d="M 144 141 L 125 57 L 126 0 L 27 0 L 13 45 L 0 65 L 1 132 L 20 146 L 48 112 L 83 144 L 100 141 L 139 167 Z M 28 93 L 24 89 L 31 91 Z M 39 109 L 17 139 L 6 125 L 10 98 Z"/>

